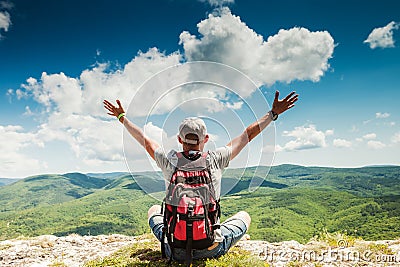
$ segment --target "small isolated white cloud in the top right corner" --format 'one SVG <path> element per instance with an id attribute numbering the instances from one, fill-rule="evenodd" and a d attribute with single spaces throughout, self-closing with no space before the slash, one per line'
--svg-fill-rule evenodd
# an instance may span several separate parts
<path id="1" fill-rule="evenodd" d="M 375 28 L 368 35 L 368 38 L 364 41 L 364 43 L 368 43 L 371 49 L 375 49 L 377 47 L 394 47 L 393 30 L 397 30 L 398 28 L 399 23 L 394 21 L 390 22 L 384 27 Z"/>

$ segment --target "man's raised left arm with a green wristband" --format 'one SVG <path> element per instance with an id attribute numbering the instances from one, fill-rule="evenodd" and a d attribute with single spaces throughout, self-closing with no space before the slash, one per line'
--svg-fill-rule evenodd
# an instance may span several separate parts
<path id="1" fill-rule="evenodd" d="M 142 129 L 125 117 L 125 111 L 121 105 L 121 102 L 117 100 L 118 107 L 114 106 L 107 100 L 104 100 L 103 104 L 104 107 L 109 111 L 107 114 L 117 117 L 117 119 L 124 124 L 125 128 L 132 135 L 132 137 L 135 138 L 136 141 L 138 141 L 139 144 L 141 144 L 146 149 L 147 153 L 149 153 L 149 155 L 154 159 L 154 151 L 160 145 L 153 139 L 145 136 Z"/>

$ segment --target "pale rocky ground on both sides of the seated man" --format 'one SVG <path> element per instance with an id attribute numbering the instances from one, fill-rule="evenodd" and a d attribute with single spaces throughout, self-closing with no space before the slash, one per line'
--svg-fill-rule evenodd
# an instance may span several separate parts
<path id="1" fill-rule="evenodd" d="M 100 235 L 19 238 L 0 242 L 0 266 L 82 266 L 123 246 L 146 241 L 146 236 Z M 247 237 L 248 239 L 248 237 Z M 269 266 L 400 266 L 400 240 L 356 241 L 338 245 L 296 241 L 268 243 L 241 240 L 237 246 L 251 251 Z M 268 266 L 268 265 L 267 265 Z"/>

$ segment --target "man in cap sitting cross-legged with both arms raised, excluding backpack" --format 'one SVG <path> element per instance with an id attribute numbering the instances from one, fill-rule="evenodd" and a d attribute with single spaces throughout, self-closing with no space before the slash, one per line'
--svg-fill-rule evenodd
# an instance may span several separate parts
<path id="1" fill-rule="evenodd" d="M 254 139 L 261 131 L 263 131 L 271 121 L 275 121 L 278 115 L 292 108 L 298 100 L 295 92 L 287 95 L 283 100 L 279 100 L 279 92 L 275 92 L 275 99 L 272 110 L 266 113 L 261 119 L 254 122 L 246 128 L 246 130 L 225 147 L 218 148 L 215 151 L 209 151 L 207 154 L 207 166 L 211 173 L 212 185 L 215 190 L 216 198 L 219 199 L 221 192 L 221 176 L 223 170 L 228 167 L 229 162 L 233 160 L 242 149 Z M 135 138 L 156 161 L 158 167 L 161 168 L 166 181 L 171 179 L 175 171 L 178 152 L 170 151 L 168 154 L 163 152 L 160 145 L 149 137 L 145 136 L 143 131 L 134 123 L 125 117 L 124 109 L 119 100 L 116 101 L 118 106 L 114 106 L 109 101 L 104 100 L 104 107 L 109 111 L 107 114 L 115 116 L 124 124 L 128 132 Z M 187 118 L 179 127 L 178 141 L 182 144 L 183 155 L 190 158 L 196 152 L 202 152 L 204 145 L 207 143 L 209 136 L 207 134 L 204 121 L 199 118 Z M 154 205 L 148 211 L 149 225 L 158 240 L 163 239 L 163 214 L 161 214 L 161 206 Z M 228 252 L 228 250 L 240 240 L 247 232 L 250 226 L 251 218 L 245 211 L 240 211 L 227 219 L 220 225 L 219 229 L 214 231 L 215 242 L 212 246 L 194 250 L 193 258 L 212 258 L 218 257 Z M 171 249 L 166 246 L 167 256 L 171 256 Z M 184 249 L 174 249 L 173 258 L 178 261 L 185 259 Z"/>

